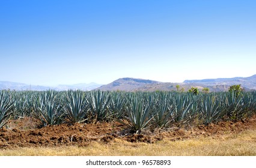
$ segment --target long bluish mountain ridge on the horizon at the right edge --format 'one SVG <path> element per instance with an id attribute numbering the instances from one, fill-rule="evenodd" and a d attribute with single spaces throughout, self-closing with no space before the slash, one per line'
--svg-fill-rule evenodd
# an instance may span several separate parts
<path id="1" fill-rule="evenodd" d="M 202 79 L 202 80 L 184 80 L 183 83 L 197 83 L 207 86 L 215 85 L 241 85 L 244 88 L 256 89 L 256 74 L 250 77 L 233 77 L 233 78 L 218 78 L 218 79 Z"/>

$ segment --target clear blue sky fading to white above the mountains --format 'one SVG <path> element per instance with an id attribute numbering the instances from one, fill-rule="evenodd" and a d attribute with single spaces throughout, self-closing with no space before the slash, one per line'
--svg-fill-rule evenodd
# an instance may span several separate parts
<path id="1" fill-rule="evenodd" d="M 31 85 L 121 77 L 256 74 L 256 1 L 0 1 L 0 80 Z"/>

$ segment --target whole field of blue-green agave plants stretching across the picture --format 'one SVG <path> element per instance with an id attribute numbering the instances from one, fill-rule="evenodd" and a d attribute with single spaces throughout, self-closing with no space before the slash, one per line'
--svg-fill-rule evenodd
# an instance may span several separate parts
<path id="1" fill-rule="evenodd" d="M 133 133 L 172 124 L 237 121 L 256 112 L 256 91 L 183 92 L 0 91 L 0 128 L 34 116 L 41 125 L 118 121 Z"/>

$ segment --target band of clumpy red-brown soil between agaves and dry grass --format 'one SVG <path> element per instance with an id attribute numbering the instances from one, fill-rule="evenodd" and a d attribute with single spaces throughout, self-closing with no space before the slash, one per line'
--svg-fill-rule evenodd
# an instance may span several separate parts
<path id="1" fill-rule="evenodd" d="M 163 138 L 183 140 L 199 136 L 218 138 L 223 134 L 240 133 L 256 128 L 256 115 L 239 122 L 218 122 L 217 124 L 199 125 L 189 129 L 173 127 L 169 130 L 127 134 L 118 123 L 98 122 L 97 124 L 49 125 L 35 128 L 31 118 L 10 121 L 7 128 L 0 129 L 0 148 L 29 146 L 87 146 L 90 142 L 111 143 L 114 139 L 128 142 L 154 143 Z"/>

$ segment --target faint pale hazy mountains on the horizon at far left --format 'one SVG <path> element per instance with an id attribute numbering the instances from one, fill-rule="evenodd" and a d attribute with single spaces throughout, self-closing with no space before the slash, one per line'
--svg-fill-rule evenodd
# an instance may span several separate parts
<path id="1" fill-rule="evenodd" d="M 0 81 L 0 90 L 10 89 L 16 91 L 46 91 L 49 89 L 54 89 L 56 91 L 67 91 L 67 90 L 82 90 L 82 91 L 91 91 L 95 88 L 98 88 L 102 85 L 97 83 L 79 83 L 75 85 L 58 85 L 56 87 L 49 86 L 40 86 L 40 85 L 28 85 L 25 83 L 17 83 L 17 82 L 7 82 Z"/>

